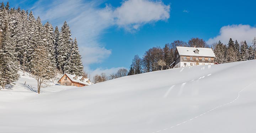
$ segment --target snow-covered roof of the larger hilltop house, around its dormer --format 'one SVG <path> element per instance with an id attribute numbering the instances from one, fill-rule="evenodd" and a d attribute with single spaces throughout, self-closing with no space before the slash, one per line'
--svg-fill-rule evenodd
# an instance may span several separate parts
<path id="1" fill-rule="evenodd" d="M 181 47 L 181 46 L 177 46 L 176 48 L 180 55 L 216 57 L 211 48 L 193 48 L 193 47 Z M 199 51 L 198 54 L 194 52 L 196 49 Z"/>

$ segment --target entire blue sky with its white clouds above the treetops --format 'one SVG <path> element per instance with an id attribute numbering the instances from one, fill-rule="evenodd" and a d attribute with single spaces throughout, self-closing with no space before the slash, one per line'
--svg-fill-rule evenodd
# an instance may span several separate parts
<path id="1" fill-rule="evenodd" d="M 142 57 L 174 40 L 199 37 L 212 44 L 232 37 L 250 43 L 256 36 L 256 1 L 13 0 L 10 5 L 59 28 L 67 21 L 91 75 L 129 68 L 135 54 Z"/>

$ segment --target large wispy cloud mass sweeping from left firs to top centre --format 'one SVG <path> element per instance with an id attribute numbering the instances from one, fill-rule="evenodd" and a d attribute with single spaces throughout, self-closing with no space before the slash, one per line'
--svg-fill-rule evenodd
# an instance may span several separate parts
<path id="1" fill-rule="evenodd" d="M 134 32 L 146 23 L 167 20 L 170 17 L 170 5 L 161 1 L 126 0 L 120 7 L 106 4 L 104 8 L 99 5 L 103 1 L 70 1 L 39 0 L 31 8 L 35 16 L 43 21 L 50 21 L 53 25 L 62 26 L 67 21 L 73 37 L 78 39 L 82 62 L 87 69 L 92 63 L 100 63 L 110 56 L 111 50 L 105 48 L 101 37 L 111 26 L 124 28 Z"/>

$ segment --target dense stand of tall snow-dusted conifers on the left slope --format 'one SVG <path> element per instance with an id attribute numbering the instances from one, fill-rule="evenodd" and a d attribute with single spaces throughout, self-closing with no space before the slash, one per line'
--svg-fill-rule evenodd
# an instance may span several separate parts
<path id="1" fill-rule="evenodd" d="M 33 12 L 0 6 L 0 85 L 16 81 L 18 70 L 28 71 L 41 83 L 56 73 L 84 74 L 78 42 L 66 22 L 61 30 L 42 24 Z"/>

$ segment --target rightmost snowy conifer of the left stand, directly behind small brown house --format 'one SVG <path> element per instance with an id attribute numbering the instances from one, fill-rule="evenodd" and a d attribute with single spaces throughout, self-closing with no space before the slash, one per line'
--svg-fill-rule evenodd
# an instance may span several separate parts
<path id="1" fill-rule="evenodd" d="M 68 62 L 64 66 L 64 72 L 82 76 L 84 74 L 84 67 L 81 61 L 81 55 L 78 50 L 78 42 L 76 38 L 72 43 L 71 55 Z"/>

